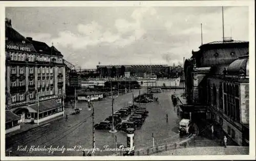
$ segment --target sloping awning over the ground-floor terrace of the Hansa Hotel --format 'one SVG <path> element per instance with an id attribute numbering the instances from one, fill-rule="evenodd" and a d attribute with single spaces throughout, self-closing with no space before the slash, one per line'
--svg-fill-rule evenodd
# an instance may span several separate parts
<path id="1" fill-rule="evenodd" d="M 59 108 L 61 105 L 62 104 L 58 103 L 56 99 L 41 101 L 39 102 L 39 113 Z M 37 106 L 38 106 L 37 103 L 29 105 L 29 107 L 35 110 L 36 112 L 37 112 Z"/>

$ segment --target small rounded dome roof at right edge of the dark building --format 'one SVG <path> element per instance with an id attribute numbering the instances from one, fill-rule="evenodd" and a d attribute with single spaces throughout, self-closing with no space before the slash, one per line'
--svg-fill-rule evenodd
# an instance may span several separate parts
<path id="1" fill-rule="evenodd" d="M 238 60 L 233 61 L 227 68 L 228 75 L 239 75 L 241 69 L 246 76 L 249 75 L 249 56 L 241 57 Z"/>

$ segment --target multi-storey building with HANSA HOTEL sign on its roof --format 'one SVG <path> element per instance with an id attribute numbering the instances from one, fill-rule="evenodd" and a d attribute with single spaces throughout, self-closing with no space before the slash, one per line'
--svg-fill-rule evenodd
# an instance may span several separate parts
<path id="1" fill-rule="evenodd" d="M 12 28 L 11 20 L 6 19 L 5 52 L 6 109 L 19 115 L 20 122 L 41 122 L 62 115 L 65 64 L 60 51 L 44 42 L 25 38 Z"/>

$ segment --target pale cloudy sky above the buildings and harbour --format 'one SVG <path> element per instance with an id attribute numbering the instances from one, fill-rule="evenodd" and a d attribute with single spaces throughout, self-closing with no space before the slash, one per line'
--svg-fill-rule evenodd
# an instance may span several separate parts
<path id="1" fill-rule="evenodd" d="M 248 7 L 224 7 L 224 37 L 249 41 Z M 203 43 L 222 40 L 222 7 L 7 7 L 12 27 L 53 45 L 82 69 L 182 65 Z"/>

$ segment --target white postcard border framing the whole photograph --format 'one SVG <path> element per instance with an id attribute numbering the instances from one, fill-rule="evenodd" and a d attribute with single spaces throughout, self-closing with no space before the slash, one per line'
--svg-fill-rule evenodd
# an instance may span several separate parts
<path id="1" fill-rule="evenodd" d="M 5 7 L 107 7 L 107 6 L 248 6 L 249 7 L 249 75 L 250 75 L 250 153 L 249 155 L 183 155 L 183 156 L 55 156 L 55 157 L 5 157 Z M 1 160 L 245 160 L 255 159 L 255 8 L 254 1 L 8 1 L 0 2 L 0 97 L 1 97 Z"/>

